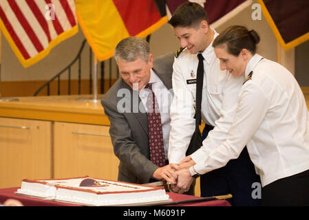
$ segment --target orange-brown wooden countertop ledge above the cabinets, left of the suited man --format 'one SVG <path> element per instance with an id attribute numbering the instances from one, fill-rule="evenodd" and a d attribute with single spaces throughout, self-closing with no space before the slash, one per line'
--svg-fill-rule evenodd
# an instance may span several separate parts
<path id="1" fill-rule="evenodd" d="M 110 124 L 107 116 L 104 115 L 100 100 L 94 102 L 91 95 L 31 96 L 18 99 L 10 102 L 0 101 L 0 116 L 52 122 Z"/>

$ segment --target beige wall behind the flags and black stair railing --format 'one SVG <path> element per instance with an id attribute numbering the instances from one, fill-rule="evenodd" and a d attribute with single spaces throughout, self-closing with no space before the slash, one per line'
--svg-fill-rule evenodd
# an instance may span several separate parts
<path id="1" fill-rule="evenodd" d="M 256 0 L 253 1 L 256 3 Z M 257 52 L 266 58 L 277 61 L 277 41 L 270 29 L 265 17 L 262 15 L 262 20 L 253 21 L 251 19 L 251 14 L 253 9 L 251 5 L 245 10 L 242 10 L 232 19 L 228 20 L 223 25 L 216 28 L 217 32 L 222 32 L 224 28 L 229 25 L 239 24 L 245 25 L 248 28 L 254 28 L 260 35 L 261 41 L 258 44 Z M 17 57 L 12 52 L 10 45 L 4 37 L 1 39 L 1 54 L 2 54 L 2 81 L 24 81 L 24 80 L 48 80 L 52 78 L 55 74 L 61 71 L 64 67 L 70 63 L 76 56 L 79 47 L 84 39 L 83 32 L 81 28 L 78 34 L 70 39 L 67 39 L 54 47 L 50 54 L 46 56 L 42 61 L 32 65 L 28 68 L 23 68 L 23 66 L 17 60 Z M 179 44 L 177 39 L 173 34 L 173 30 L 169 24 L 164 24 L 156 32 L 151 34 L 150 39 L 151 53 L 154 57 L 164 54 L 166 52 L 174 52 L 178 49 Z M 290 71 L 294 71 L 294 55 L 293 52 L 288 52 L 289 56 L 285 56 L 283 50 L 281 51 L 281 60 L 284 62 L 289 62 Z M 89 74 L 89 46 L 86 45 L 85 51 L 83 52 L 82 63 L 82 78 L 88 78 Z M 292 61 L 291 61 L 292 60 Z M 111 62 L 111 78 L 116 78 L 116 64 L 114 59 Z M 285 63 L 282 63 L 286 65 Z M 100 68 L 98 69 L 100 72 Z M 77 64 L 72 68 L 72 72 L 77 72 Z M 105 76 L 109 78 L 109 61 L 105 62 Z M 100 74 L 98 75 L 100 78 Z M 65 79 L 67 76 L 61 78 Z M 77 78 L 77 73 L 72 78 Z"/>

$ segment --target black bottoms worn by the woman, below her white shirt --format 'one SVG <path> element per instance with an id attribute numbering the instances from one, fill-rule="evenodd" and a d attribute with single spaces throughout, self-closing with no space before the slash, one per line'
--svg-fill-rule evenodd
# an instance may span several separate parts
<path id="1" fill-rule="evenodd" d="M 262 206 L 309 206 L 309 170 L 264 186 Z"/>

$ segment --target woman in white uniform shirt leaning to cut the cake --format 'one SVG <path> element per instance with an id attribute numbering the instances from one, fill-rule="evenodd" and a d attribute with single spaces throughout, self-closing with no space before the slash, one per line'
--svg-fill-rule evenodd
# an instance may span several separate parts
<path id="1" fill-rule="evenodd" d="M 191 176 L 225 166 L 247 146 L 262 181 L 262 205 L 309 206 L 309 113 L 303 93 L 283 66 L 255 54 L 254 30 L 231 26 L 215 41 L 220 68 L 245 76 L 227 140 L 204 162 L 184 159 L 175 190 L 186 190 Z M 193 166 L 192 166 L 193 165 Z"/>

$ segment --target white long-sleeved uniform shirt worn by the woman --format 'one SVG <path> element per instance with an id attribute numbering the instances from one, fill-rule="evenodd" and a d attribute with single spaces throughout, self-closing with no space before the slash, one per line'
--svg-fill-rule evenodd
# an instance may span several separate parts
<path id="1" fill-rule="evenodd" d="M 262 186 L 309 169 L 309 113 L 303 93 L 287 69 L 261 58 L 255 54 L 246 67 L 245 76 L 253 70 L 252 80 L 239 93 L 227 140 L 195 164 L 198 173 L 225 166 L 245 145 Z"/>

